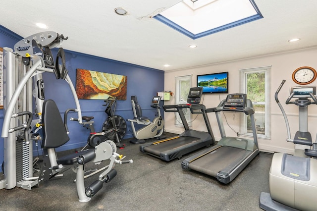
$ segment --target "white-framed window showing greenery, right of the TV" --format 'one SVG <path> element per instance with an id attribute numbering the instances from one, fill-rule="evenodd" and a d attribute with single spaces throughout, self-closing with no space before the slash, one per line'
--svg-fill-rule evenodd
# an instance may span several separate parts
<path id="1" fill-rule="evenodd" d="M 271 66 L 240 70 L 240 90 L 253 103 L 258 137 L 264 139 L 270 139 L 271 130 L 270 69 Z M 252 135 L 250 116 L 243 115 L 240 131 Z"/>

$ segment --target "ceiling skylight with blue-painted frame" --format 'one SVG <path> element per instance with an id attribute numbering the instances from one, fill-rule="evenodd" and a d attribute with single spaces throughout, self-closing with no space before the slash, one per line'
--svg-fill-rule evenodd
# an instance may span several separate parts
<path id="1" fill-rule="evenodd" d="M 154 18 L 197 39 L 263 16 L 253 0 L 183 0 Z"/>

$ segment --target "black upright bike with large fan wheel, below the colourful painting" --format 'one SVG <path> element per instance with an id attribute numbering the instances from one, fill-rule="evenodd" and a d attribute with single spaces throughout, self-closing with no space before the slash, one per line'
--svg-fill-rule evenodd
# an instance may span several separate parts
<path id="1" fill-rule="evenodd" d="M 90 129 L 90 135 L 87 140 L 87 144 L 82 149 L 77 149 L 76 151 L 83 151 L 87 149 L 88 147 L 95 148 L 97 145 L 99 145 L 102 142 L 105 142 L 106 140 L 111 140 L 115 143 L 115 145 L 119 148 L 123 148 L 124 145 L 120 143 L 122 138 L 124 137 L 127 127 L 126 122 L 122 116 L 114 115 L 115 107 L 116 107 L 116 97 L 109 97 L 104 102 L 106 103 L 103 106 L 106 106 L 105 112 L 108 115 L 106 118 L 106 121 L 103 124 L 102 131 L 96 132 L 94 127 L 94 116 L 82 116 L 82 119 L 84 120 L 81 124 L 86 127 L 87 129 Z M 68 109 L 65 112 L 64 116 L 64 125 L 66 130 L 67 128 L 67 115 L 69 111 L 75 111 L 75 109 Z M 75 118 L 70 118 L 71 121 L 77 121 Z"/>

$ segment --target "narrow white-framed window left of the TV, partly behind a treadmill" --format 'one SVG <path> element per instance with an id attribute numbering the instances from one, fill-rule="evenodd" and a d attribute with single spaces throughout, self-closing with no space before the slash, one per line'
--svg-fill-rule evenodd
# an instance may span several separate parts
<path id="1" fill-rule="evenodd" d="M 192 75 L 175 77 L 175 105 L 187 104 L 188 93 L 192 85 L 191 79 Z M 188 108 L 184 108 L 183 112 L 188 122 L 188 126 L 191 126 L 190 110 Z M 177 112 L 175 112 L 175 125 L 183 127 L 183 123 Z"/>

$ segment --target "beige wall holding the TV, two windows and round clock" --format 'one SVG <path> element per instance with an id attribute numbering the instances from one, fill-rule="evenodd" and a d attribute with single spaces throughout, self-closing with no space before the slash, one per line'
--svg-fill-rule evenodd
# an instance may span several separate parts
<path id="1" fill-rule="evenodd" d="M 170 90 L 175 92 L 175 77 L 185 76 L 193 74 L 192 76 L 192 87 L 196 86 L 196 76 L 201 74 L 216 73 L 216 72 L 229 72 L 229 93 L 239 92 L 239 69 L 256 68 L 262 66 L 272 65 L 271 68 L 271 139 L 260 139 L 259 148 L 262 151 L 273 151 L 273 152 L 284 152 L 293 153 L 294 144 L 287 143 L 287 132 L 284 122 L 284 118 L 281 111 L 274 100 L 274 93 L 283 79 L 286 80 L 282 90 L 279 93 L 279 100 L 285 109 L 288 116 L 288 120 L 291 128 L 291 136 L 294 137 L 295 132 L 298 130 L 298 107 L 295 105 L 285 105 L 285 101 L 289 96 L 289 87 L 296 86 L 297 84 L 292 80 L 293 71 L 301 66 L 310 66 L 317 69 L 317 48 L 310 48 L 301 51 L 293 51 L 287 53 L 275 53 L 261 57 L 253 57 L 243 60 L 236 60 L 225 63 L 218 63 L 206 66 L 193 67 L 182 70 L 166 71 L 165 72 L 165 85 L 164 90 Z M 317 80 L 310 85 L 317 85 Z M 208 107 L 215 107 L 218 105 L 220 100 L 226 98 L 226 94 L 206 94 L 203 95 L 203 104 Z M 220 98 L 220 99 L 219 99 Z M 165 105 L 173 105 L 174 98 L 170 101 L 165 101 Z M 317 134 L 317 106 L 311 105 L 308 109 L 309 118 L 308 125 L 309 131 L 312 134 L 313 141 L 315 141 Z M 216 123 L 214 113 L 209 113 L 209 119 L 211 127 L 218 141 L 220 139 L 219 129 Z M 193 115 L 192 119 L 196 115 Z M 167 132 L 181 133 L 184 131 L 183 127 L 176 127 L 174 125 L 174 113 L 165 112 L 165 130 Z M 231 113 L 226 112 L 227 120 L 231 127 L 235 131 L 239 131 L 239 118 Z M 225 130 L 227 136 L 236 136 L 233 130 L 231 130 L 225 123 Z M 193 122 L 191 129 L 207 131 L 206 125 L 202 115 L 199 115 Z"/>

